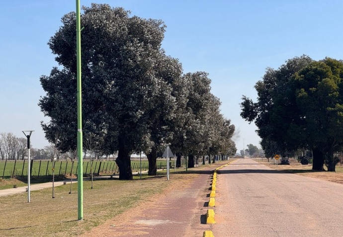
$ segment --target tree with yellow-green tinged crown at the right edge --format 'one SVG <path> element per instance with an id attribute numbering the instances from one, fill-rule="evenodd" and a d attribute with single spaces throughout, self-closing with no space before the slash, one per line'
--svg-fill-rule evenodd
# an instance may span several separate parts
<path id="1" fill-rule="evenodd" d="M 343 61 L 326 58 L 295 74 L 288 93 L 298 108 L 290 127 L 313 155 L 324 154 L 328 171 L 335 171 L 334 153 L 343 146 Z M 317 153 L 317 154 L 316 154 Z"/>

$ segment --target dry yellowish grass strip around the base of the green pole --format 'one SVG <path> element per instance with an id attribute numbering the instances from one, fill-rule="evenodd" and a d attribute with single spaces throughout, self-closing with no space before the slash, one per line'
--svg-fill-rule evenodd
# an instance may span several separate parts
<path id="1" fill-rule="evenodd" d="M 186 185 L 198 175 L 196 170 L 203 167 L 190 168 L 187 173 L 183 168 L 176 169 L 176 172 L 171 169 L 169 181 L 166 170 L 159 171 L 156 177 L 144 174 L 143 179 L 139 179 L 138 174 L 134 180 L 129 181 L 96 180 L 93 189 L 90 189 L 90 182 L 85 181 L 84 221 L 77 221 L 77 184 L 73 184 L 72 194 L 69 194 L 70 185 L 56 187 L 54 199 L 51 198 L 51 188 L 32 191 L 30 203 L 27 203 L 26 193 L 0 197 L 0 236 L 81 235 L 129 208 L 134 211 L 142 201 L 154 201 L 154 195 L 165 189 Z"/>

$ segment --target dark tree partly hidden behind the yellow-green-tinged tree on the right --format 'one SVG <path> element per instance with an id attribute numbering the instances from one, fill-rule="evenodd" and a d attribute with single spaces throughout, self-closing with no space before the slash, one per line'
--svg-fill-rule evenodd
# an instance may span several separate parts
<path id="1" fill-rule="evenodd" d="M 303 55 L 286 61 L 278 70 L 268 68 L 263 79 L 255 85 L 257 102 L 243 96 L 241 116 L 250 123 L 255 121 L 260 145 L 267 157 L 292 154 L 298 147 L 307 146 L 299 143 L 296 134 L 289 133 L 289 127 L 294 123 L 292 115 L 297 114 L 297 108 L 294 103 L 287 102 L 286 91 L 294 74 L 312 61 Z M 314 169 L 317 160 L 314 159 Z"/>

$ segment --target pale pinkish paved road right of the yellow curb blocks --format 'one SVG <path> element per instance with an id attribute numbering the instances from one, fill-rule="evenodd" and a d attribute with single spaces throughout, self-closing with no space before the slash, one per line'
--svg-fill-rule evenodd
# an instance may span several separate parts
<path id="1" fill-rule="evenodd" d="M 215 237 L 342 237 L 343 185 L 239 159 L 218 171 Z"/>

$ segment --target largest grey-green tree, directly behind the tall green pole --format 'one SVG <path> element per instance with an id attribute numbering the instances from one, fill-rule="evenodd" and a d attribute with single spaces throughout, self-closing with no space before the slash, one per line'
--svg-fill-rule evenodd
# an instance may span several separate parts
<path id="1" fill-rule="evenodd" d="M 103 151 L 118 151 L 119 179 L 132 179 L 130 154 L 153 147 L 150 134 L 156 121 L 167 118 L 174 98 L 170 82 L 162 75 L 161 20 L 130 17 L 123 8 L 92 3 L 83 7 L 82 78 L 83 128 L 103 139 Z M 40 78 L 46 95 L 39 101 L 49 123 L 41 123 L 51 141 L 61 131 L 63 151 L 75 150 L 76 32 L 75 12 L 62 17 L 62 26 L 51 37 L 50 49 L 62 68 Z M 153 113 L 157 106 L 160 114 Z"/>

